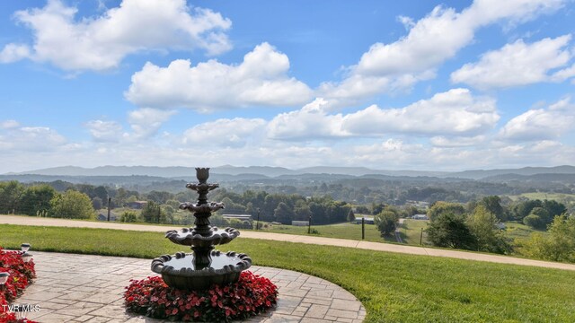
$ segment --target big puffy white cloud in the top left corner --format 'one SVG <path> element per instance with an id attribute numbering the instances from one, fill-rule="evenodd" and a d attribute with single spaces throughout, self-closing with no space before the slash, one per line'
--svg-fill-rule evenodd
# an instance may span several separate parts
<path id="1" fill-rule="evenodd" d="M 0 62 L 30 57 L 66 71 L 102 71 L 142 50 L 202 48 L 216 55 L 231 48 L 225 33 L 231 22 L 220 13 L 190 8 L 185 0 L 123 0 L 117 8 L 83 19 L 76 19 L 77 12 L 49 0 L 43 8 L 14 13 L 31 29 L 34 42 L 7 44 Z"/>

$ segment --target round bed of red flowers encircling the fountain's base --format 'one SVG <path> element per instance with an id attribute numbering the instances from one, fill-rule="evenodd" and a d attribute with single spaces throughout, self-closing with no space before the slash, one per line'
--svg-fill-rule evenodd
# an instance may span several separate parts
<path id="1" fill-rule="evenodd" d="M 228 322 L 246 319 L 276 304 L 278 287 L 268 278 L 244 271 L 235 284 L 201 292 L 168 287 L 162 277 L 147 277 L 126 287 L 128 310 L 155 319 Z"/>

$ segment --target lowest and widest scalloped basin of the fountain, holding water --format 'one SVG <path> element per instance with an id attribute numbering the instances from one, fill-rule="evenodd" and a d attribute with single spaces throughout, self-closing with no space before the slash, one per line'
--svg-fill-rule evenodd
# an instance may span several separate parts
<path id="1" fill-rule="evenodd" d="M 164 283 L 182 290 L 206 290 L 212 284 L 233 284 L 240 274 L 252 266 L 252 259 L 246 254 L 219 250 L 210 253 L 211 264 L 202 269 L 194 267 L 194 255 L 178 252 L 173 256 L 164 255 L 152 261 L 152 271 L 162 275 Z"/>

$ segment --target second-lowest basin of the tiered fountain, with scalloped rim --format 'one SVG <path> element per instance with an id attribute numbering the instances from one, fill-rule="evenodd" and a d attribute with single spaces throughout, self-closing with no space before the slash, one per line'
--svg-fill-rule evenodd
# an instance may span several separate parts
<path id="1" fill-rule="evenodd" d="M 214 245 L 222 245 L 229 243 L 240 235 L 240 231 L 234 228 L 226 228 L 220 230 L 217 227 L 213 227 L 208 236 L 203 236 L 194 229 L 183 228 L 181 231 L 167 231 L 165 232 L 165 237 L 168 238 L 173 243 L 181 244 L 183 246 L 197 246 L 197 247 L 209 247 Z"/>

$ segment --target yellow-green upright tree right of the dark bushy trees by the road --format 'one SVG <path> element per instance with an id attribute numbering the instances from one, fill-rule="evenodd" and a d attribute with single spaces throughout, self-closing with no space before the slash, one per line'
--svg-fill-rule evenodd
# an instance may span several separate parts
<path id="1" fill-rule="evenodd" d="M 509 252 L 509 244 L 497 227 L 499 220 L 492 214 L 485 205 L 477 205 L 473 214 L 467 217 L 469 231 L 475 237 L 477 250 L 506 253 Z"/>

